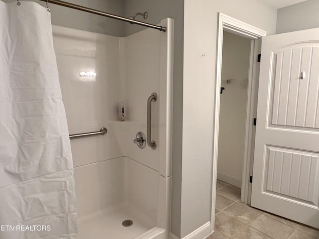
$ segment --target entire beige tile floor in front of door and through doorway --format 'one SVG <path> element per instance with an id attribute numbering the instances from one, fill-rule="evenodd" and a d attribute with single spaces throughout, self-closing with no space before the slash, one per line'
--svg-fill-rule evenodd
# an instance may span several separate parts
<path id="1" fill-rule="evenodd" d="M 240 188 L 217 180 L 215 232 L 207 239 L 319 239 L 319 231 L 254 209 Z"/>

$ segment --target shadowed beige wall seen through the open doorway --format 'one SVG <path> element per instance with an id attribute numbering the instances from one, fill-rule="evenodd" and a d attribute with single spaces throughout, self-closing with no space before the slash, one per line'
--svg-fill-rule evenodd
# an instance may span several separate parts
<path id="1" fill-rule="evenodd" d="M 241 185 L 244 159 L 247 79 L 251 40 L 224 31 L 217 178 Z"/>

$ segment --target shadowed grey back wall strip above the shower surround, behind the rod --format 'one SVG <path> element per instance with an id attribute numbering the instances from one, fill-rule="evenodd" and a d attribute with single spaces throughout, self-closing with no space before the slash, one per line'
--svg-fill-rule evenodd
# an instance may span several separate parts
<path id="1" fill-rule="evenodd" d="M 5 2 L 16 0 L 4 0 Z M 20 0 L 23 7 L 23 0 Z M 45 2 L 33 0 L 46 7 Z M 112 14 L 123 15 L 124 0 L 66 0 L 77 5 L 106 11 Z M 127 22 L 99 16 L 63 6 L 49 3 L 51 21 L 53 25 L 65 26 L 79 30 L 108 34 L 112 36 L 125 36 L 124 27 Z"/>

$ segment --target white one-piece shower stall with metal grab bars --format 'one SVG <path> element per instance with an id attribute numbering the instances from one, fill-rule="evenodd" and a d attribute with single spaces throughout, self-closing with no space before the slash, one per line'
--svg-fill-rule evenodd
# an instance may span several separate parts
<path id="1" fill-rule="evenodd" d="M 160 25 L 126 37 L 53 25 L 69 133 L 107 129 L 71 138 L 79 239 L 168 238 L 173 19 Z"/>

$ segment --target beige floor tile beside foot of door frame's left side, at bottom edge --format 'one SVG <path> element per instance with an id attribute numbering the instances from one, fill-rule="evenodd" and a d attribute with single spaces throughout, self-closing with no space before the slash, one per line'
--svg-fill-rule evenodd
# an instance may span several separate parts
<path id="1" fill-rule="evenodd" d="M 215 230 L 229 238 L 233 238 L 236 234 L 244 230 L 245 227 L 246 224 L 223 212 L 218 213 L 215 217 Z"/>

